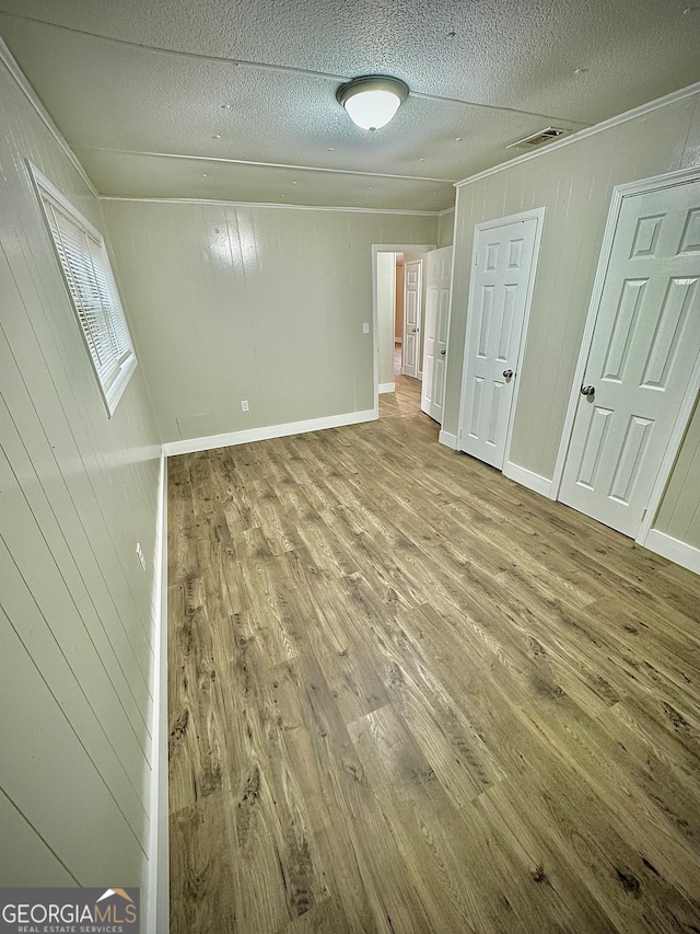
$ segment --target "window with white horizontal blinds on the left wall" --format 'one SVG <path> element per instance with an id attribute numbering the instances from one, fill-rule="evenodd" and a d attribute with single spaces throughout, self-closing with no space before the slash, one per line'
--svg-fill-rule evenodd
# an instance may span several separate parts
<path id="1" fill-rule="evenodd" d="M 104 241 L 51 183 L 32 174 L 75 316 L 112 416 L 136 356 Z"/>

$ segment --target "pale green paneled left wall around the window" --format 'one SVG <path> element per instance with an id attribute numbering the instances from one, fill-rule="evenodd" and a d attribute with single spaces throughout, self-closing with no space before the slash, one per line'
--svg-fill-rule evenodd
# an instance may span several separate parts
<path id="1" fill-rule="evenodd" d="M 25 160 L 100 203 L 3 65 L 0 127 L 0 885 L 139 886 L 160 439 L 141 368 L 107 418 Z"/>

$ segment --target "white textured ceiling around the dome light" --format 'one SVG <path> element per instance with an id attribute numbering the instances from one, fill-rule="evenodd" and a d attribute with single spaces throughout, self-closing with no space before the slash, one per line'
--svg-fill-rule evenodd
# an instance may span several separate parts
<path id="1" fill-rule="evenodd" d="M 523 136 L 700 79 L 690 0 L 0 0 L 0 35 L 114 196 L 435 210 Z M 374 134 L 335 100 L 372 71 L 411 89 Z"/>

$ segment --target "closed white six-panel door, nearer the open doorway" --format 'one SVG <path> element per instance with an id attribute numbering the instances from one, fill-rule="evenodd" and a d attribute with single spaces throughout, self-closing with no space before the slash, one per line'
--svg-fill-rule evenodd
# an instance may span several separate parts
<path id="1" fill-rule="evenodd" d="M 459 450 L 501 470 L 541 216 L 476 229 Z"/>

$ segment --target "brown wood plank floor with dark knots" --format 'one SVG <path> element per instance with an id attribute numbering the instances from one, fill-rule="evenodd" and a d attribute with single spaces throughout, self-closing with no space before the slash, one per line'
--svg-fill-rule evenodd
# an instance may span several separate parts
<path id="1" fill-rule="evenodd" d="M 168 462 L 171 930 L 700 931 L 700 578 L 396 382 Z"/>

